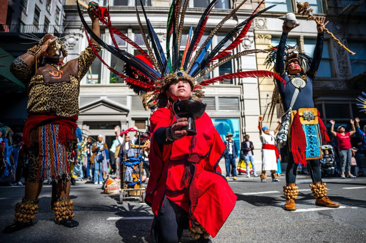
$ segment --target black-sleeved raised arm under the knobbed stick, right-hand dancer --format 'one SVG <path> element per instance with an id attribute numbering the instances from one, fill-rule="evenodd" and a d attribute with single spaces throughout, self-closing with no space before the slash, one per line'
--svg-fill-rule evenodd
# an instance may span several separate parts
<path id="1" fill-rule="evenodd" d="M 325 22 L 325 17 L 318 18 L 318 21 L 320 24 L 317 24 L 317 31 L 318 31 L 318 37 L 317 37 L 317 43 L 315 44 L 314 53 L 313 53 L 313 60 L 310 63 L 309 71 L 307 72 L 307 75 L 310 77 L 315 77 L 315 75 L 318 72 L 320 60 L 323 53 L 323 42 L 324 42 L 324 28 L 326 24 L 328 24 L 329 21 Z"/>

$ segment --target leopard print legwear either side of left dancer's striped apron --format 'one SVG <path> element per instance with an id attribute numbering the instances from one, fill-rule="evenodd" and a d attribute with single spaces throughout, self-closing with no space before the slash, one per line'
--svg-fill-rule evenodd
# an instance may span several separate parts
<path id="1" fill-rule="evenodd" d="M 67 154 L 67 162 L 69 164 L 70 168 L 70 159 L 71 159 L 71 152 L 72 152 L 72 141 L 67 141 L 67 148 L 66 148 L 66 154 Z M 40 182 L 39 179 L 37 179 L 38 175 L 38 168 L 39 168 L 39 147 L 38 143 L 34 143 L 34 145 L 30 148 L 28 148 L 28 163 L 29 163 L 29 175 L 28 175 L 28 182 L 38 183 Z M 70 174 L 70 173 L 69 173 Z M 70 175 L 66 176 L 63 175 L 63 178 L 61 178 L 60 181 L 70 181 Z"/>

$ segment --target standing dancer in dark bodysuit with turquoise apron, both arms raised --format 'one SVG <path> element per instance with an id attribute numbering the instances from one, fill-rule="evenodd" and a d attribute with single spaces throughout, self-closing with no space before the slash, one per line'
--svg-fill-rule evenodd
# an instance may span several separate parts
<path id="1" fill-rule="evenodd" d="M 296 181 L 296 168 L 300 163 L 302 166 L 308 164 L 310 176 L 313 181 L 310 184 L 313 192 L 315 205 L 330 208 L 338 208 L 339 204 L 332 202 L 327 197 L 326 184 L 321 179 L 320 159 L 322 156 L 322 143 L 329 143 L 326 128 L 320 119 L 320 112 L 314 108 L 313 102 L 313 80 L 318 71 L 324 39 L 324 21 L 319 19 L 317 25 L 318 37 L 314 49 L 313 59 L 296 49 L 288 48 L 286 45 L 288 32 L 293 28 L 283 25 L 283 33 L 277 51 L 273 49 L 267 60 L 276 60 L 275 71 L 286 80 L 282 83 L 276 79 L 276 85 L 281 96 L 284 110 L 282 123 L 289 123 L 290 131 L 280 128 L 277 134 L 277 143 L 287 141 L 288 161 L 286 168 L 286 185 L 283 186 L 285 198 L 285 210 L 296 210 L 294 199 L 298 196 Z M 270 56 L 272 55 L 272 58 Z M 275 58 L 273 58 L 275 56 Z M 285 61 L 284 61 L 285 56 Z M 287 73 L 286 73 L 287 72 Z"/>

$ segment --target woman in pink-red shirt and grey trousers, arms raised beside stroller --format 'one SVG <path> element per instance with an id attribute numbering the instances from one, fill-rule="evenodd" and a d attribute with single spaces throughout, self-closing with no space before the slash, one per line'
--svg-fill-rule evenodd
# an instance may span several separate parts
<path id="1" fill-rule="evenodd" d="M 341 160 L 341 178 L 346 178 L 346 175 L 344 175 L 344 171 L 346 170 L 346 164 L 347 164 L 347 177 L 348 178 L 355 178 L 356 176 L 351 174 L 351 159 L 352 159 L 352 146 L 351 146 L 351 136 L 356 132 L 355 129 L 355 122 L 351 119 L 351 127 L 352 131 L 345 132 L 346 131 L 346 125 L 340 125 L 338 127 L 338 132 L 334 131 L 334 124 L 336 123 L 334 120 L 329 121 L 330 124 L 332 124 L 332 127 L 330 128 L 330 133 L 332 133 L 338 140 L 338 149 L 339 149 L 339 157 Z"/>

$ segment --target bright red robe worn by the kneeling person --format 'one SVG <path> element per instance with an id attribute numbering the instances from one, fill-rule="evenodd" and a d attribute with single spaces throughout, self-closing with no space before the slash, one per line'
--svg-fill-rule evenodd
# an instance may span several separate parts
<path id="1" fill-rule="evenodd" d="M 188 212 L 190 225 L 192 220 L 197 220 L 215 237 L 237 199 L 219 167 L 225 145 L 210 117 L 204 113 L 195 121 L 197 135 L 163 145 L 161 153 L 153 134 L 158 128 L 172 125 L 176 119 L 167 108 L 158 109 L 150 117 L 151 174 L 145 201 L 157 215 L 165 195 Z"/>

